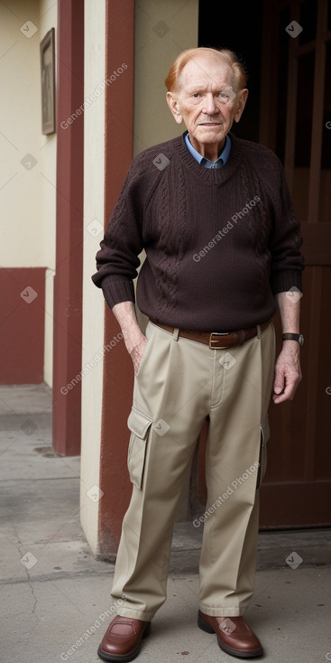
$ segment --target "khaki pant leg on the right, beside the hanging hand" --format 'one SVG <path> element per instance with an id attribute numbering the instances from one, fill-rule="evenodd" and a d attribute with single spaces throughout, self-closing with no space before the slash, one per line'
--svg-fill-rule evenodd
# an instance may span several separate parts
<path id="1" fill-rule="evenodd" d="M 216 359 L 199 595 L 200 610 L 211 616 L 242 615 L 253 594 L 261 426 L 271 397 L 274 346 L 270 325 L 261 339 L 231 348 L 228 356 L 221 350 Z"/>

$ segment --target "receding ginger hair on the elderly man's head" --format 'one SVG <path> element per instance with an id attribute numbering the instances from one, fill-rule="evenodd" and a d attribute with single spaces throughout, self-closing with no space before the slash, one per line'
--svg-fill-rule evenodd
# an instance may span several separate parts
<path id="1" fill-rule="evenodd" d="M 168 76 L 165 79 L 165 85 L 169 92 L 174 92 L 177 89 L 180 73 L 188 61 L 194 60 L 194 58 L 197 57 L 200 53 L 215 53 L 217 56 L 220 56 L 233 71 L 235 89 L 240 90 L 246 87 L 247 73 L 244 67 L 244 62 L 240 60 L 239 56 L 236 55 L 234 51 L 200 46 L 198 48 L 182 51 L 172 62 Z"/>

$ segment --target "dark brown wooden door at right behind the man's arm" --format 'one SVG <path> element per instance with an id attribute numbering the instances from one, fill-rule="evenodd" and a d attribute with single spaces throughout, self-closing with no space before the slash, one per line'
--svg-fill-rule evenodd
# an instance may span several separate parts
<path id="1" fill-rule="evenodd" d="M 330 23 L 327 0 L 264 3 L 259 142 L 285 165 L 306 269 L 303 381 L 292 403 L 271 404 L 262 528 L 331 523 Z"/>

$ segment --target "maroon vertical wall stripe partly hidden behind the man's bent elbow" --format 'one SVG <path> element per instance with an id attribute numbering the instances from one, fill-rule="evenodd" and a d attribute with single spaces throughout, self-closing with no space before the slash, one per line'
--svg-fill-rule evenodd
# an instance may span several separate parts
<path id="1" fill-rule="evenodd" d="M 111 82 L 106 86 L 106 225 L 133 158 L 133 45 L 134 0 L 107 0 L 106 78 Z M 106 309 L 105 343 L 119 331 L 115 316 Z M 120 341 L 106 353 L 104 365 L 100 487 L 105 494 L 99 509 L 99 556 L 116 552 L 131 495 L 126 420 L 132 393 L 132 362 Z"/>

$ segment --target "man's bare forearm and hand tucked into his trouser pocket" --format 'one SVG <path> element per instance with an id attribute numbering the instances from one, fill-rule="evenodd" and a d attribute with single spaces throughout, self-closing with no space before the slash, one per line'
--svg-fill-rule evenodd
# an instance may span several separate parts
<path id="1" fill-rule="evenodd" d="M 143 359 L 147 339 L 138 325 L 133 302 L 116 303 L 113 307 L 113 313 L 120 324 L 126 350 L 133 360 L 134 373 L 137 374 L 140 362 Z"/>

